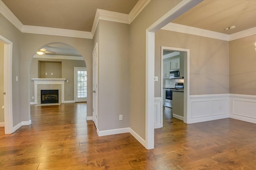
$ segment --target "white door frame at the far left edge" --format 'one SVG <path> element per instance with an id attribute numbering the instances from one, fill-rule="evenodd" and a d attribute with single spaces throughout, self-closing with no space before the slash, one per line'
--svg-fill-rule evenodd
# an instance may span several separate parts
<path id="1" fill-rule="evenodd" d="M 13 133 L 12 119 L 12 41 L 0 35 L 4 43 L 4 133 Z M 2 94 L 1 94 L 2 95 Z M 2 106 L 1 106 L 2 107 Z"/>

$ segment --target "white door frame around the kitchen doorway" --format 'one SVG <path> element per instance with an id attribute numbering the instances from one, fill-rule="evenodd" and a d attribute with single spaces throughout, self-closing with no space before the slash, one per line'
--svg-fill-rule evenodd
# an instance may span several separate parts
<path id="1" fill-rule="evenodd" d="M 163 106 L 163 51 L 164 50 L 171 50 L 171 51 L 182 51 L 184 52 L 184 117 L 183 122 L 188 123 L 187 119 L 187 109 L 188 109 L 188 99 L 189 99 L 189 87 L 190 87 L 190 74 L 189 74 L 189 63 L 190 63 L 190 50 L 189 49 L 181 49 L 181 48 L 174 48 L 174 47 L 165 47 L 161 46 L 161 106 Z M 161 107 L 161 127 L 163 127 L 163 107 Z"/>

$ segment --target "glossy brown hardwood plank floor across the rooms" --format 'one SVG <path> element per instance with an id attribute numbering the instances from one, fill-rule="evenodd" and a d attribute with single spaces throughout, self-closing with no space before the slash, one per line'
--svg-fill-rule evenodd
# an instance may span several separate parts
<path id="1" fill-rule="evenodd" d="M 31 106 L 32 124 L 0 128 L 0 169 L 228 170 L 256 169 L 256 124 L 220 119 L 185 124 L 164 109 L 155 149 L 130 133 L 98 137 L 86 104 Z"/>

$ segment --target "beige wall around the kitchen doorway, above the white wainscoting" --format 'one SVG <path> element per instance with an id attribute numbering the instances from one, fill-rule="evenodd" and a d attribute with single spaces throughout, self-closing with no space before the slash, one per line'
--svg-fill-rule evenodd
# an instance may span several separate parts
<path id="1" fill-rule="evenodd" d="M 161 76 L 161 46 L 190 50 L 190 95 L 229 93 L 228 41 L 159 30 L 155 33 L 155 76 Z M 160 83 L 155 84 L 160 96 Z"/>

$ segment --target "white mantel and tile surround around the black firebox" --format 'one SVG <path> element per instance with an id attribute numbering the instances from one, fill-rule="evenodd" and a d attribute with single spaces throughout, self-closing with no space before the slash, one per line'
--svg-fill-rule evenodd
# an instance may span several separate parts
<path id="1" fill-rule="evenodd" d="M 34 80 L 34 104 L 41 104 L 41 90 L 59 90 L 59 103 L 64 102 L 66 78 L 31 78 L 31 80 Z"/>

